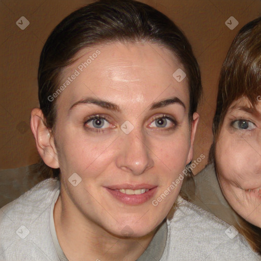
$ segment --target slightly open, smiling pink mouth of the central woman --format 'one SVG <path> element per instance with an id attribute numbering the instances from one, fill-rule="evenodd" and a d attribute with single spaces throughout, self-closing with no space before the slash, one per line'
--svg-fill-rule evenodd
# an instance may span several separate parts
<path id="1" fill-rule="evenodd" d="M 115 199 L 128 205 L 139 205 L 154 196 L 158 186 L 153 185 L 117 185 L 104 187 Z"/>

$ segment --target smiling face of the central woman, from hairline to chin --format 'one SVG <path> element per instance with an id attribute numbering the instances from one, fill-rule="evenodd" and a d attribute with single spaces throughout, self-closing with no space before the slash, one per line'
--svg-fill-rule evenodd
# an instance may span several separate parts
<path id="1" fill-rule="evenodd" d="M 166 217 L 181 183 L 157 206 L 152 200 L 190 162 L 198 120 L 189 122 L 188 79 L 174 79 L 178 68 L 157 44 L 111 43 L 85 49 L 64 71 L 61 85 L 71 83 L 56 101 L 55 140 L 72 218 L 139 237 Z"/>

